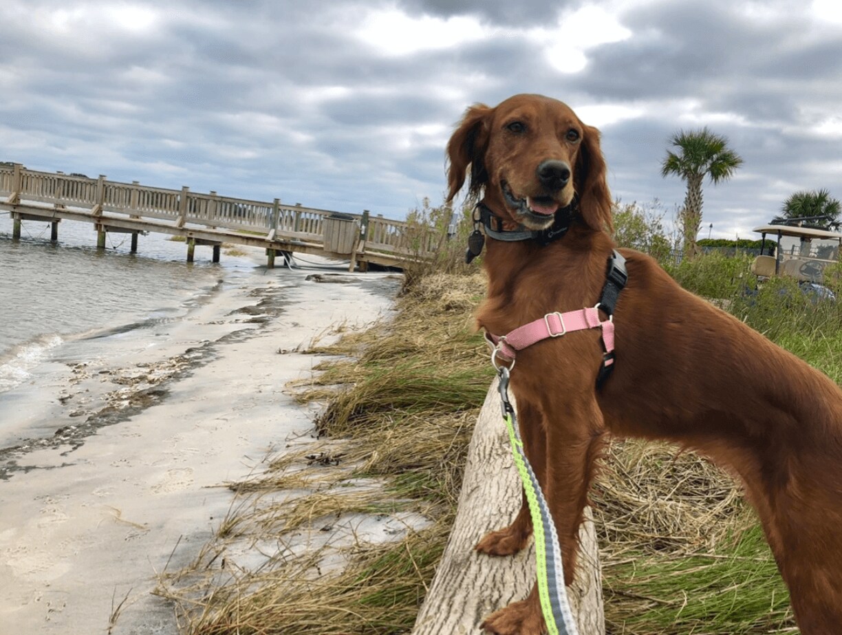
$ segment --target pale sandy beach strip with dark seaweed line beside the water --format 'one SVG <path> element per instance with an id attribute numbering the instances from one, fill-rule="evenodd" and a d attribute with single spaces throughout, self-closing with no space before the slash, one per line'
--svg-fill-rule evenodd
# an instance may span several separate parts
<path id="1" fill-rule="evenodd" d="M 0 395 L 0 633 L 177 632 L 156 573 L 195 558 L 232 504 L 221 483 L 312 442 L 317 406 L 285 390 L 318 361 L 301 351 L 388 315 L 399 285 L 313 273 L 254 269 Z"/>

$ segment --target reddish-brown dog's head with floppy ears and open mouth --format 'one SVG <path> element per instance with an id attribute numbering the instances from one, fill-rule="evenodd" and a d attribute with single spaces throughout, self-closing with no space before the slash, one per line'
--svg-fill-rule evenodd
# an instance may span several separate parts
<path id="1" fill-rule="evenodd" d="M 515 95 L 495 108 L 467 109 L 447 144 L 448 200 L 465 184 L 504 221 L 531 229 L 552 226 L 556 211 L 578 197 L 582 220 L 611 227 L 600 132 L 566 104 L 541 95 Z"/>

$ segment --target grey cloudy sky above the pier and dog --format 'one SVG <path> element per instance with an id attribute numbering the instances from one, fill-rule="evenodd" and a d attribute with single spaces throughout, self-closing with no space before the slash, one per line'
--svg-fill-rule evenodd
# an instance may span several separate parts
<path id="1" fill-rule="evenodd" d="M 445 191 L 472 103 L 562 99 L 610 187 L 660 200 L 669 136 L 744 159 L 704 229 L 749 237 L 798 189 L 842 198 L 838 0 L 3 0 L 0 161 L 402 218 Z"/>

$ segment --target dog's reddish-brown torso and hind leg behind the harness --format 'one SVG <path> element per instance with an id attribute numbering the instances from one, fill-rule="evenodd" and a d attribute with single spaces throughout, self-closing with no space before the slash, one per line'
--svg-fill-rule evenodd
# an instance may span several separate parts
<path id="1" fill-rule="evenodd" d="M 731 469 L 758 511 L 804 632 L 842 627 L 842 390 L 623 250 L 614 434 L 675 441 Z"/>

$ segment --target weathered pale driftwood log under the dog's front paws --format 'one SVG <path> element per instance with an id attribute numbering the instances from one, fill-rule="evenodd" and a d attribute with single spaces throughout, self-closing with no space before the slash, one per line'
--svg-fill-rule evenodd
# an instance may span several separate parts
<path id="1" fill-rule="evenodd" d="M 488 531 L 514 520 L 520 492 L 495 380 L 468 449 L 456 522 L 413 635 L 474 635 L 485 617 L 529 593 L 535 581 L 531 542 L 529 548 L 506 558 L 482 555 L 473 548 Z M 579 635 L 604 635 L 600 556 L 594 523 L 589 514 L 587 518 L 580 531 L 578 574 L 568 596 Z"/>

